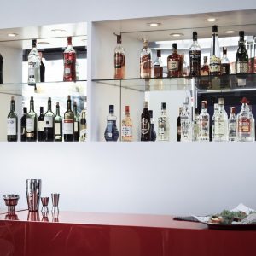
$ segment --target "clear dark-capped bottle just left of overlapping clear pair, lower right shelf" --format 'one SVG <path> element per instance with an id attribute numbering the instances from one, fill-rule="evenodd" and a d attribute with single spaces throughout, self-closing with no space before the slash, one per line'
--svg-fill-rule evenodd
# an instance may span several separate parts
<path id="1" fill-rule="evenodd" d="M 210 140 L 210 115 L 207 112 L 207 101 L 201 102 L 201 114 L 199 115 L 199 137 L 201 142 Z"/>

